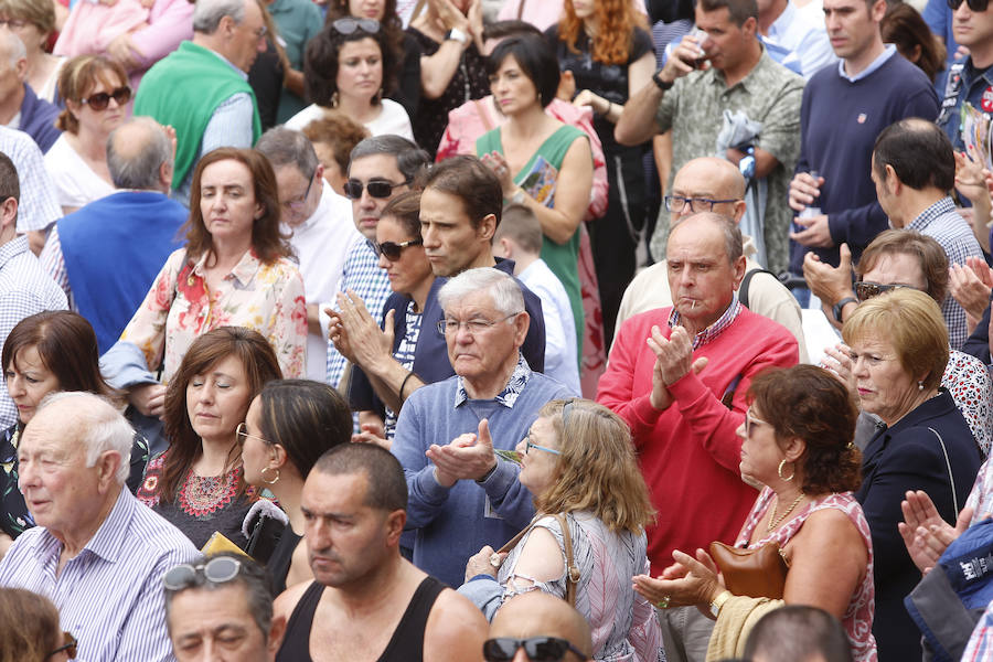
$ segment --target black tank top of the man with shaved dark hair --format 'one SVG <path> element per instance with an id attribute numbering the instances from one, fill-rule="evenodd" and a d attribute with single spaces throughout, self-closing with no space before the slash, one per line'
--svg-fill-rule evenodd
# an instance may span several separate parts
<path id="1" fill-rule="evenodd" d="M 430 575 L 424 578 L 377 662 L 424 662 L 424 630 L 435 600 L 446 588 L 445 584 Z M 323 592 L 323 584 L 313 581 L 307 587 L 290 615 L 286 637 L 276 653 L 276 662 L 313 662 L 310 656 L 310 629 Z"/>

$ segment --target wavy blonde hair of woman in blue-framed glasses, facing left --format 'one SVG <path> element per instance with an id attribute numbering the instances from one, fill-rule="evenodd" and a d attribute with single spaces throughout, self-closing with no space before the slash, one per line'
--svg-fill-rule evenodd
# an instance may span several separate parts
<path id="1" fill-rule="evenodd" d="M 563 421 L 565 407 L 569 409 Z M 551 420 L 562 455 L 558 480 L 535 495 L 535 509 L 589 511 L 615 533 L 641 533 L 654 510 L 627 424 L 604 405 L 580 398 L 552 401 L 538 417 Z"/>

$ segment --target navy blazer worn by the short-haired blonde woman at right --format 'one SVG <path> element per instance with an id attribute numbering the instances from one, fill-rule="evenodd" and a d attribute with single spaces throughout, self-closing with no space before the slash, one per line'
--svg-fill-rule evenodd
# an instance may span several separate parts
<path id="1" fill-rule="evenodd" d="M 944 442 L 948 463 L 936 431 Z M 948 466 L 951 465 L 955 500 L 961 510 L 981 462 L 975 439 L 947 391 L 880 430 L 866 446 L 862 457 L 862 487 L 855 498 L 865 511 L 873 536 L 876 588 L 873 634 L 879 662 L 921 659 L 920 632 L 904 607 L 904 598 L 920 581 L 920 570 L 910 560 L 897 530 L 897 523 L 904 521 L 900 502 L 905 493 L 923 490 L 941 517 L 954 524 L 958 512 Z"/>

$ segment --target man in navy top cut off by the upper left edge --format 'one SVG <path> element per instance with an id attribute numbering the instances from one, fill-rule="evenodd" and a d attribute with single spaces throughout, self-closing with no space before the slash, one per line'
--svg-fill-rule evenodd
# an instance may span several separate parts
<path id="1" fill-rule="evenodd" d="M 55 128 L 58 108 L 38 98 L 26 79 L 24 44 L 12 31 L 0 30 L 0 125 L 24 131 L 46 152 L 62 135 Z"/>

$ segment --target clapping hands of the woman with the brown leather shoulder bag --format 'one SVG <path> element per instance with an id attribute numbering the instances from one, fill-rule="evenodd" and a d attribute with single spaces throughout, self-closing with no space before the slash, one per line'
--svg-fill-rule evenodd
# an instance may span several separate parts
<path id="1" fill-rule="evenodd" d="M 675 563 L 665 568 L 658 578 L 636 575 L 634 590 L 660 609 L 670 607 L 707 607 L 720 595 L 724 579 L 717 565 L 703 549 L 696 551 L 696 558 L 679 549 L 672 553 Z"/>

